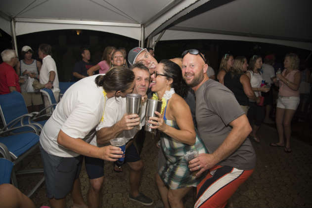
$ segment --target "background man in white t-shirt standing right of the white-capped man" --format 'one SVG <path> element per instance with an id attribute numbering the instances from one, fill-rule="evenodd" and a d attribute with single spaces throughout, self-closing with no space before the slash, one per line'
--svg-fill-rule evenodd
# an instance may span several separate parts
<path id="1" fill-rule="evenodd" d="M 42 59 L 39 82 L 45 84 L 46 88 L 50 88 L 54 94 L 56 102 L 59 100 L 60 89 L 58 87 L 58 75 L 56 64 L 51 57 L 51 45 L 40 44 L 38 49 L 39 58 Z M 45 108 L 50 105 L 49 99 L 44 95 Z M 47 111 L 49 113 L 49 111 Z"/>

